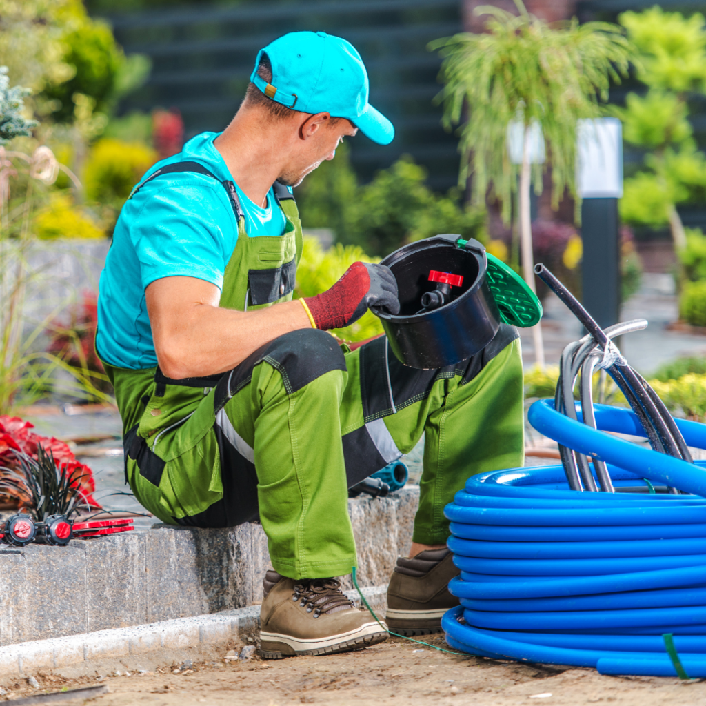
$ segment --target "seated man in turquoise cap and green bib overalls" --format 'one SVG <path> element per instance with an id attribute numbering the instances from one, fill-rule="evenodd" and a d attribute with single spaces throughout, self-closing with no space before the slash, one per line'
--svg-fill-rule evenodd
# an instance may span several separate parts
<path id="1" fill-rule="evenodd" d="M 439 629 L 456 604 L 443 506 L 474 472 L 522 462 L 519 342 L 504 326 L 472 359 L 421 371 L 385 338 L 350 352 L 325 333 L 371 307 L 396 313 L 388 268 L 355 263 L 328 292 L 291 301 L 301 256 L 292 186 L 360 130 L 368 102 L 349 42 L 294 32 L 265 47 L 244 102 L 145 174 L 124 206 L 100 282 L 97 349 L 124 423 L 126 480 L 164 522 L 259 519 L 265 657 L 341 652 L 386 638 L 335 576 L 356 563 L 347 489 L 426 434 L 409 556 L 388 622 Z"/>

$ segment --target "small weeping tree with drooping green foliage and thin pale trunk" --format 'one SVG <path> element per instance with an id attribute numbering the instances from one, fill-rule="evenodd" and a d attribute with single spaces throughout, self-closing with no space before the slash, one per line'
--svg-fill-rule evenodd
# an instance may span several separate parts
<path id="1" fill-rule="evenodd" d="M 472 175 L 472 200 L 499 198 L 510 221 L 513 193 L 520 196 L 522 273 L 534 289 L 530 186 L 542 191 L 542 167 L 530 164 L 530 131 L 538 124 L 548 143 L 551 201 L 558 207 L 566 189 L 575 193 L 576 129 L 579 119 L 601 113 L 610 81 L 628 73 L 633 49 L 618 25 L 591 22 L 549 25 L 515 0 L 519 16 L 493 6 L 476 8 L 490 16 L 486 33 L 462 33 L 432 42 L 443 57 L 443 121 L 460 127 L 460 185 Z M 508 126 L 524 128 L 522 163 L 508 153 Z M 544 366 L 539 324 L 534 352 Z"/>

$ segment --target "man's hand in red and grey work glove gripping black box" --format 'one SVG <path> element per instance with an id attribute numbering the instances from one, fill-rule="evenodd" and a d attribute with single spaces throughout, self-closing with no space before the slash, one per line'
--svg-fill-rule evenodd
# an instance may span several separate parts
<path id="1" fill-rule="evenodd" d="M 304 301 L 323 330 L 349 326 L 372 308 L 400 311 L 395 276 L 385 265 L 370 263 L 353 263 L 333 287 Z"/>

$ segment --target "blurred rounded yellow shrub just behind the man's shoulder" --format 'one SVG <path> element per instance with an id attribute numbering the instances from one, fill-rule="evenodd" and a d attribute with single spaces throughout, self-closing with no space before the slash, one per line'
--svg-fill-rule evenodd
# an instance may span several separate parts
<path id="1" fill-rule="evenodd" d="M 133 186 L 157 161 L 157 153 L 141 143 L 99 140 L 85 165 L 83 181 L 90 201 L 120 208 Z"/>

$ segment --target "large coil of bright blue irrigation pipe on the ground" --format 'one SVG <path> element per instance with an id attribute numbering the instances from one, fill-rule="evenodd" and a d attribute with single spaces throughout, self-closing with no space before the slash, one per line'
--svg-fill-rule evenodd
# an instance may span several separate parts
<path id="1" fill-rule="evenodd" d="M 606 461 L 618 492 L 572 491 L 561 465 L 471 477 L 445 508 L 461 570 L 449 585 L 461 606 L 443 617 L 446 640 L 483 657 L 678 676 L 663 638 L 671 634 L 686 674 L 705 677 L 706 462 L 605 433 L 646 436 L 627 409 L 594 405 L 598 429 L 580 411 L 577 421 L 539 400 L 530 423 Z M 706 425 L 676 424 L 688 445 L 706 448 Z"/>

